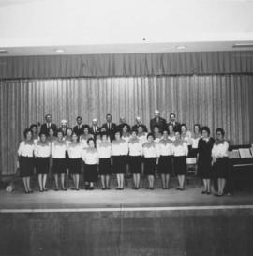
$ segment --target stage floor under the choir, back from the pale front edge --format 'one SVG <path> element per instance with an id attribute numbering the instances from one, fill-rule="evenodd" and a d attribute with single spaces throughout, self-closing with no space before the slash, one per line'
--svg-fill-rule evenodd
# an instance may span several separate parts
<path id="1" fill-rule="evenodd" d="M 202 195 L 201 187 L 186 186 L 185 191 L 175 188 L 163 190 L 156 188 L 153 191 L 141 188 L 133 190 L 101 190 L 99 188 L 86 191 L 54 191 L 31 194 L 22 192 L 22 188 L 8 193 L 0 191 L 0 212 L 44 209 L 124 209 L 143 207 L 201 207 L 201 206 L 244 206 L 253 205 L 253 192 L 249 190 L 237 191 L 233 195 L 216 197 Z"/>

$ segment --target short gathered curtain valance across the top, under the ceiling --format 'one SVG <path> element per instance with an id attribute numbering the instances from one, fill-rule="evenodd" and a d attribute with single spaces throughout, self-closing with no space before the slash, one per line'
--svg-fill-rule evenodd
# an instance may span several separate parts
<path id="1" fill-rule="evenodd" d="M 252 74 L 253 52 L 117 53 L 0 58 L 0 80 Z"/>

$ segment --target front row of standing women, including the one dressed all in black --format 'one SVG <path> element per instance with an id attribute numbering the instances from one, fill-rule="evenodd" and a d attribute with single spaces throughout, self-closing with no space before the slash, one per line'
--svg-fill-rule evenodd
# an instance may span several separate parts
<path id="1" fill-rule="evenodd" d="M 159 143 L 154 142 L 154 135 L 147 135 L 147 142 L 142 144 L 137 136 L 137 131 L 132 131 L 128 142 L 121 138 L 121 132 L 115 132 L 112 143 L 106 133 L 102 134 L 101 142 L 95 143 L 93 138 L 87 140 L 88 147 L 83 148 L 78 136 L 73 133 L 72 141 L 67 143 L 63 139 L 61 130 L 57 132 L 57 139 L 50 142 L 46 134 L 40 134 L 40 140 L 35 144 L 32 140 L 32 132 L 24 131 L 25 140 L 20 143 L 18 154 L 20 157 L 21 175 L 25 193 L 32 192 L 30 177 L 36 166 L 40 191 L 47 191 L 46 181 L 52 158 L 52 173 L 54 175 L 55 190 L 59 189 L 60 177 L 61 189 L 65 186 L 67 169 L 73 177 L 74 188 L 79 190 L 80 175 L 82 173 L 82 161 L 84 163 L 84 181 L 86 189 L 93 189 L 97 182 L 98 174 L 101 176 L 102 189 L 110 189 L 110 176 L 117 176 L 118 187 L 124 189 L 124 174 L 127 173 L 127 163 L 133 176 L 133 188 L 140 188 L 140 175 L 143 172 L 148 178 L 148 189 L 153 190 L 154 176 L 161 175 L 162 187 L 170 188 L 171 173 L 178 177 L 178 190 L 185 189 L 186 156 L 188 146 L 181 139 L 180 131 L 175 131 L 175 139 L 169 138 L 169 132 L 163 131 L 163 137 Z M 198 173 L 204 184 L 203 194 L 211 193 L 211 179 L 217 179 L 217 196 L 222 196 L 226 178 L 228 176 L 228 147 L 224 141 L 224 130 L 216 129 L 216 142 L 210 137 L 210 129 L 201 128 L 201 139 L 198 145 Z M 34 158 L 35 157 L 35 158 Z M 112 171 L 111 171 L 112 170 Z"/>

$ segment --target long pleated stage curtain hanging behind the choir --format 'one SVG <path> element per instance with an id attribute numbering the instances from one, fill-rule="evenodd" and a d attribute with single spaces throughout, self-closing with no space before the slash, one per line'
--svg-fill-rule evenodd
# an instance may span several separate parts
<path id="1" fill-rule="evenodd" d="M 170 76 L 98 79 L 57 79 L 0 82 L 1 173 L 16 172 L 17 148 L 22 132 L 33 123 L 43 123 L 52 113 L 59 125 L 67 119 L 75 125 L 77 115 L 99 125 L 107 113 L 118 123 L 126 116 L 130 125 L 136 115 L 149 127 L 154 110 L 167 120 L 171 112 L 192 130 L 195 123 L 226 131 L 232 144 L 253 142 L 253 76 Z"/>

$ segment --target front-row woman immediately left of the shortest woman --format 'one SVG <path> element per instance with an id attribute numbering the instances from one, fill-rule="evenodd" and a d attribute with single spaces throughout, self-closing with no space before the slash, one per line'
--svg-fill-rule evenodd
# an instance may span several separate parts
<path id="1" fill-rule="evenodd" d="M 72 133 L 72 141 L 67 145 L 68 168 L 69 173 L 73 177 L 74 188 L 72 190 L 79 190 L 79 180 L 82 170 L 82 145 L 78 142 L 78 135 Z"/>

